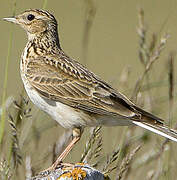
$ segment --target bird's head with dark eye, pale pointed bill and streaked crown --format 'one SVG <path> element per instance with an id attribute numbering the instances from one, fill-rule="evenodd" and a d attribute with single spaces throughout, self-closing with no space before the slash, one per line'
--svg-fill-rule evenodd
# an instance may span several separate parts
<path id="1" fill-rule="evenodd" d="M 20 25 L 28 35 L 57 30 L 55 17 L 49 12 L 39 9 L 26 10 L 15 17 L 3 18 L 3 20 Z"/>

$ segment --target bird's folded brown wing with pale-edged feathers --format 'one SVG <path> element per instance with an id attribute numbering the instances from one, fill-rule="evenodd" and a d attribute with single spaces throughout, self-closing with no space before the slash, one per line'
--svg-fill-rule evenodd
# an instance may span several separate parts
<path id="1" fill-rule="evenodd" d="M 139 119 L 134 104 L 67 56 L 28 59 L 25 76 L 43 97 L 84 111 Z"/>

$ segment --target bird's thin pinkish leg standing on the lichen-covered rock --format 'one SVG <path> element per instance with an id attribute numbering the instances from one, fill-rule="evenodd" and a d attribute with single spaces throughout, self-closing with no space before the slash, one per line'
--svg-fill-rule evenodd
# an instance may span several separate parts
<path id="1" fill-rule="evenodd" d="M 60 156 L 52 164 L 52 166 L 46 169 L 45 171 L 55 170 L 57 166 L 63 161 L 63 159 L 65 159 L 65 157 L 69 154 L 69 152 L 72 150 L 74 145 L 80 140 L 81 135 L 82 135 L 82 130 L 80 128 L 74 128 L 72 141 L 68 144 L 65 150 L 60 154 Z"/>

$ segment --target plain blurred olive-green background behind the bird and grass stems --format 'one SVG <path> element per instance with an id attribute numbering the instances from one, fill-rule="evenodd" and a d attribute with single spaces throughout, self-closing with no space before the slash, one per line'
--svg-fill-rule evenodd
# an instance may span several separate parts
<path id="1" fill-rule="evenodd" d="M 15 13 L 21 13 L 29 8 L 42 8 L 44 1 L 41 0 L 1 0 L 0 1 L 0 18 L 12 16 L 14 3 L 16 2 Z M 87 54 L 84 55 L 84 32 L 87 19 L 87 3 L 86 0 L 51 0 L 46 1 L 46 9 L 52 12 L 59 24 L 59 35 L 61 46 L 64 51 L 79 62 L 86 64 L 87 67 L 99 75 L 105 81 L 111 83 L 128 97 L 131 97 L 131 91 L 135 86 L 137 79 L 141 76 L 144 67 L 139 60 L 139 36 L 137 34 L 138 27 L 138 10 L 144 9 L 145 27 L 148 30 L 147 37 L 151 41 L 153 33 L 156 33 L 158 39 L 165 33 L 170 34 L 165 50 L 162 52 L 161 58 L 157 60 L 151 70 L 150 83 L 161 84 L 151 90 L 153 96 L 153 106 L 146 102 L 148 93 L 139 94 L 141 101 L 139 105 L 143 105 L 148 111 L 154 112 L 163 119 L 168 119 L 169 102 L 168 102 L 168 69 L 167 60 L 170 52 L 176 52 L 177 48 L 177 0 L 95 0 L 93 1 L 96 8 L 96 14 L 90 29 Z M 15 99 L 22 92 L 22 81 L 19 73 L 20 56 L 27 42 L 25 32 L 18 26 L 0 21 L 0 94 L 3 92 L 3 81 L 5 73 L 5 63 L 9 46 L 9 37 L 12 32 L 12 48 L 10 51 L 10 62 L 8 68 L 8 84 L 6 97 L 13 96 Z M 83 58 L 87 57 L 87 58 Z M 126 70 L 129 75 L 126 84 L 122 83 L 122 75 Z M 174 72 L 176 70 L 176 62 L 174 61 Z M 176 74 L 175 76 L 176 77 Z M 176 80 L 176 78 L 175 78 Z M 176 94 L 176 86 L 174 95 Z M 145 99 L 145 100 L 144 100 Z M 2 101 L 2 96 L 0 96 Z M 33 105 L 31 104 L 31 107 Z M 176 97 L 174 99 L 174 124 L 177 121 Z M 32 126 L 41 128 L 47 124 L 54 122 L 50 117 L 35 107 L 32 108 L 33 122 Z M 31 126 L 30 126 L 31 127 Z M 27 127 L 28 129 L 28 127 Z M 143 131 L 137 128 L 140 133 Z M 30 131 L 30 130 L 29 130 Z M 32 163 L 40 164 L 40 156 L 53 145 L 63 133 L 63 128 L 52 126 L 43 133 L 40 133 L 40 144 L 36 148 L 33 143 L 29 148 L 24 148 L 25 154 L 32 156 Z M 103 134 L 103 152 L 108 154 L 119 146 L 122 127 L 104 128 Z M 87 134 L 88 132 L 86 132 Z M 6 132 L 6 134 L 8 134 Z M 84 134 L 81 142 L 75 147 L 73 152 L 67 157 L 66 161 L 77 162 L 80 158 L 78 153 L 80 149 L 84 149 L 86 136 Z M 144 145 L 139 152 L 139 156 L 152 147 L 158 148 L 163 138 L 151 134 L 153 141 Z M 161 141 L 159 141 L 159 139 Z M 28 147 L 28 146 L 27 146 Z M 174 145 L 174 148 L 176 145 Z M 34 148 L 34 149 L 33 149 Z M 35 154 L 33 155 L 33 153 Z M 174 153 L 174 151 L 172 151 Z M 38 162 L 39 161 L 39 162 Z M 176 166 L 177 156 L 173 159 L 173 170 Z M 51 161 L 41 167 L 40 170 L 46 168 Z M 136 170 L 133 175 L 136 179 L 142 179 L 144 173 L 147 176 L 151 169 L 157 166 L 157 162 L 152 163 Z M 112 177 L 115 177 L 116 172 Z M 173 174 L 173 173 L 172 173 Z M 22 176 L 21 176 L 22 177 Z M 129 177 L 130 178 L 130 177 Z M 163 177 L 160 177 L 163 179 Z M 23 178 L 22 178 L 23 179 Z M 113 178 L 114 179 L 114 178 Z M 130 178 L 131 179 L 131 178 Z M 172 178 L 173 179 L 173 178 Z M 175 178 L 174 178 L 175 179 Z"/>

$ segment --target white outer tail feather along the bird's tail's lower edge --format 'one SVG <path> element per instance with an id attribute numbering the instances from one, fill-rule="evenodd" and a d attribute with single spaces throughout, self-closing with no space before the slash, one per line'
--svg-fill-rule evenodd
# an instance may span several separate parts
<path id="1" fill-rule="evenodd" d="M 147 129 L 147 130 L 149 130 L 149 131 L 152 131 L 152 132 L 154 132 L 154 133 L 156 133 L 156 134 L 159 134 L 159 135 L 161 135 L 161 136 L 163 136 L 163 137 L 166 137 L 166 138 L 168 138 L 168 139 L 170 139 L 170 140 L 172 140 L 172 141 L 177 142 L 177 138 L 172 137 L 172 136 L 166 134 L 165 132 L 156 129 L 155 127 L 153 128 L 153 127 L 150 126 L 150 125 L 148 126 L 148 124 L 144 124 L 144 123 L 139 122 L 139 121 L 133 121 L 133 124 L 135 124 L 135 125 L 137 125 L 137 126 L 140 126 L 140 127 L 144 128 L 144 129 Z M 165 127 L 164 127 L 164 128 L 165 128 Z"/>

